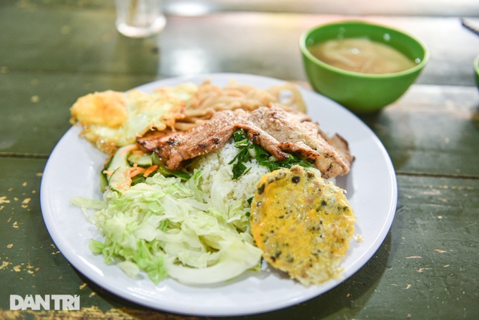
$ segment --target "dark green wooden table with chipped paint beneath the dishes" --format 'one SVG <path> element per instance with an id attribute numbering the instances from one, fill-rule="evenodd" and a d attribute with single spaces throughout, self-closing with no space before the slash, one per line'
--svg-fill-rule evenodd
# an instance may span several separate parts
<path id="1" fill-rule="evenodd" d="M 479 4 L 232 2 L 211 1 L 214 11 L 185 16 L 165 1 L 163 33 L 128 39 L 114 28 L 111 1 L 0 1 L 0 319 L 197 319 L 108 293 L 77 272 L 51 240 L 39 187 L 49 154 L 70 128 L 69 108 L 89 92 L 194 73 L 254 73 L 307 87 L 299 35 L 344 18 L 401 27 L 431 52 L 404 97 L 361 116 L 396 170 L 392 228 L 374 257 L 328 293 L 237 319 L 475 319 L 479 91 L 472 63 L 479 37 L 459 18 L 479 25 Z M 79 295 L 80 311 L 10 310 L 11 295 L 56 294 Z"/>

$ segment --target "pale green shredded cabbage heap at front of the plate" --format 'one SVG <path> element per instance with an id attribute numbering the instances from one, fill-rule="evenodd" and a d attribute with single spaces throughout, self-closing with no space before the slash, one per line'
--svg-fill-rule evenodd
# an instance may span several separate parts
<path id="1" fill-rule="evenodd" d="M 104 242 L 91 240 L 90 250 L 132 278 L 144 271 L 154 283 L 166 276 L 188 284 L 218 283 L 258 268 L 261 250 L 254 246 L 244 208 L 227 207 L 218 201 L 223 195 L 210 199 L 199 190 L 200 178 L 199 171 L 186 182 L 157 173 L 125 192 L 106 190 L 101 203 L 73 198 L 77 207 L 97 210 L 91 221 Z"/>

